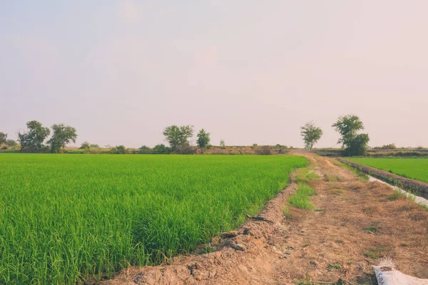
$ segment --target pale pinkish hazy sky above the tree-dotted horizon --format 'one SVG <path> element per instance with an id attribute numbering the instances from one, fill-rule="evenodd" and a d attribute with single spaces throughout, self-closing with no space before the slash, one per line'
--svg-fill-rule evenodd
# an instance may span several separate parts
<path id="1" fill-rule="evenodd" d="M 29 120 L 76 145 L 302 147 L 355 114 L 369 145 L 428 146 L 428 1 L 1 1 L 0 131 Z"/>

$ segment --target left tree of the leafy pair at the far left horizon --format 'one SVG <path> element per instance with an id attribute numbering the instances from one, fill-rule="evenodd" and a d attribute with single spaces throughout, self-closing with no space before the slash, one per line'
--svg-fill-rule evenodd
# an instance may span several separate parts
<path id="1" fill-rule="evenodd" d="M 18 132 L 21 151 L 40 152 L 43 147 L 44 140 L 51 131 L 36 120 L 27 122 L 26 126 L 28 130 L 24 131 L 24 133 Z"/>

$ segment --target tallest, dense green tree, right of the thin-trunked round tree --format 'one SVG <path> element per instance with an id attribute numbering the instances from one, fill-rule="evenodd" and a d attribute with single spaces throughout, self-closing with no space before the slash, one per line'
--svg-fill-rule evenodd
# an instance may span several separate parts
<path id="1" fill-rule="evenodd" d="M 370 138 L 368 134 L 357 134 L 358 131 L 364 130 L 364 124 L 357 115 L 342 115 L 332 127 L 342 136 L 337 143 L 345 147 L 345 155 L 366 154 Z"/>

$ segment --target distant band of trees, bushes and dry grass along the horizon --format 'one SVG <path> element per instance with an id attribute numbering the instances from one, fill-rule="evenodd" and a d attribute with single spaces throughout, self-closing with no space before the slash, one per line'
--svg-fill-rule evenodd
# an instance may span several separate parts
<path id="1" fill-rule="evenodd" d="M 128 148 L 125 145 L 116 147 L 106 145 L 100 147 L 96 143 L 83 142 L 80 147 L 66 147 L 70 142 L 76 142 L 77 131 L 70 125 L 54 124 L 51 128 L 44 127 L 40 122 L 32 120 L 26 123 L 27 129 L 19 130 L 17 133 L 18 142 L 8 139 L 6 133 L 0 132 L 0 150 L 10 152 L 39 152 L 39 153 L 84 153 L 84 154 L 223 154 L 223 155 L 277 155 L 285 154 L 293 147 L 285 145 L 258 145 L 252 146 L 228 146 L 225 141 L 220 140 L 218 146 L 211 145 L 210 133 L 205 129 L 200 129 L 196 134 L 196 145 L 191 145 L 195 133 L 193 125 L 170 125 L 163 129 L 166 145 L 159 143 L 155 147 L 142 145 L 138 149 Z M 332 127 L 340 133 L 341 138 L 337 141 L 342 145 L 340 155 L 345 156 L 365 156 L 367 155 L 369 135 L 360 133 L 364 130 L 364 124 L 357 115 L 342 115 L 332 124 Z M 308 122 L 300 127 L 300 135 L 305 144 L 305 148 L 312 150 L 314 145 L 322 137 L 322 129 L 315 123 Z M 51 135 L 51 138 L 48 137 Z M 372 147 L 372 150 L 403 150 L 403 152 L 392 152 L 391 156 L 427 156 L 417 150 L 425 150 L 419 146 L 409 151 L 404 147 L 396 147 L 394 143 Z M 317 150 L 335 150 L 323 148 Z M 336 149 L 337 150 L 337 149 Z M 335 155 L 335 154 L 332 154 Z M 371 154 L 380 156 L 380 154 Z M 389 154 L 382 154 L 389 155 Z"/>

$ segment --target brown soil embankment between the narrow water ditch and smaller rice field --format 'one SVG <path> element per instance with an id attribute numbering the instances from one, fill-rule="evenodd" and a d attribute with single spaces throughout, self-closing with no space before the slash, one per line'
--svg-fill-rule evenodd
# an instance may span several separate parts
<path id="1" fill-rule="evenodd" d="M 395 185 L 405 190 L 411 190 L 412 192 L 416 191 L 418 196 L 428 199 L 428 183 L 426 182 L 409 179 L 406 177 L 395 175 L 394 173 L 391 173 L 391 172 L 379 170 L 377 168 L 374 168 L 368 165 L 362 165 L 357 162 L 344 160 L 342 158 L 337 158 L 337 160 L 347 165 L 350 165 L 352 167 L 355 167 L 357 168 L 357 170 L 365 172 L 368 175 L 371 175 L 372 177 L 375 177 L 389 184 Z"/>

